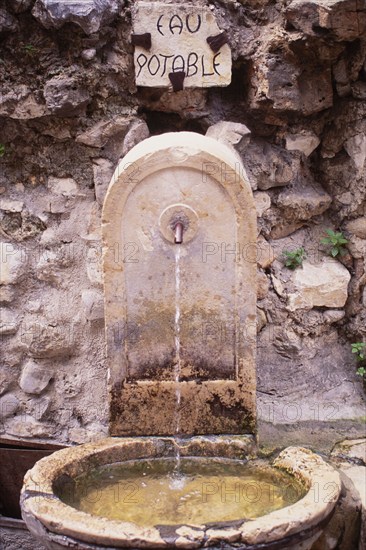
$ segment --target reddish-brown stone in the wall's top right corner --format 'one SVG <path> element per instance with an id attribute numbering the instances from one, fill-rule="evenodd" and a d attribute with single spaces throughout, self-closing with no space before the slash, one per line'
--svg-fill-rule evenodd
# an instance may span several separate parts
<path id="1" fill-rule="evenodd" d="M 352 41 L 366 30 L 366 7 L 357 0 L 292 0 L 286 17 L 309 36 Z"/>

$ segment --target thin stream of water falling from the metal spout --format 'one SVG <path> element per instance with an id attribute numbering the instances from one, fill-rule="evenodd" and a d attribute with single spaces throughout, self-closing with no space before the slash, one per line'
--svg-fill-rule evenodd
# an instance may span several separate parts
<path id="1" fill-rule="evenodd" d="M 181 391 L 180 391 L 180 369 L 181 369 L 181 358 L 180 358 L 180 252 L 181 247 L 175 247 L 175 320 L 174 320 L 174 334 L 175 334 L 175 418 L 176 426 L 175 433 L 179 436 L 180 432 L 180 402 L 181 402 Z M 180 448 L 177 444 L 175 445 L 175 461 L 176 461 L 176 472 L 179 473 L 180 470 Z"/>

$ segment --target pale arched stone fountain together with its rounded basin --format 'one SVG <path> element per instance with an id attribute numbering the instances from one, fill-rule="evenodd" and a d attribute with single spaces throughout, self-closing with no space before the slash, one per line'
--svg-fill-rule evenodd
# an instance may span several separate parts
<path id="1" fill-rule="evenodd" d="M 109 186 L 103 239 L 113 437 L 58 451 L 28 472 L 21 505 L 30 531 L 52 549 L 310 549 L 340 480 L 306 449 L 284 450 L 270 472 L 255 458 L 256 213 L 239 157 L 187 132 L 140 143 Z M 255 517 L 241 509 L 239 473 L 237 515 L 227 518 L 222 500 L 222 518 L 200 522 L 173 514 L 139 523 L 80 506 L 79 480 L 95 490 L 98 469 L 170 461 L 179 478 L 184 461 L 194 469 L 202 459 L 239 472 L 248 463 L 280 484 L 289 475 L 301 490 Z"/>

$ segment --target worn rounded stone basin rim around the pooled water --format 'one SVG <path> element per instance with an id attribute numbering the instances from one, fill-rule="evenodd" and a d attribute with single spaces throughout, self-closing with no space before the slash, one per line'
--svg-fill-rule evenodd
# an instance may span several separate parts
<path id="1" fill-rule="evenodd" d="M 252 436 L 108 438 L 57 451 L 40 460 L 24 480 L 21 509 L 31 533 L 49 549 L 245 548 L 307 550 L 330 520 L 340 494 L 338 473 L 308 449 L 289 447 L 272 466 L 300 481 L 305 496 L 255 519 L 217 525 L 142 527 L 73 508 L 57 487 L 96 468 L 124 461 L 174 457 L 222 457 L 255 463 Z"/>

